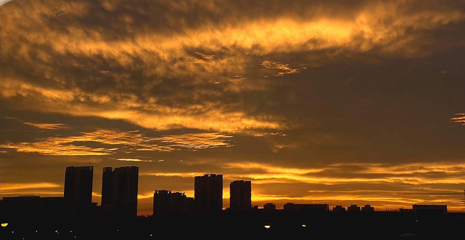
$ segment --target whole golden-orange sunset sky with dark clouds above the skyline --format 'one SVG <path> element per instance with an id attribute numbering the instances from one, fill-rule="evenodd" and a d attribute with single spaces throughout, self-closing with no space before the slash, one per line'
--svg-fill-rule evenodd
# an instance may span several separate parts
<path id="1" fill-rule="evenodd" d="M 465 2 L 13 0 L 0 8 L 0 195 L 66 166 L 252 204 L 465 211 Z"/>

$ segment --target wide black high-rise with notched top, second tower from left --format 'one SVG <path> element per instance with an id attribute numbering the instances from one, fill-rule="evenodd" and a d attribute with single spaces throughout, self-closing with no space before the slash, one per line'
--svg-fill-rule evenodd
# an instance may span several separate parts
<path id="1" fill-rule="evenodd" d="M 102 208 L 104 215 L 136 219 L 139 167 L 103 168 Z"/>

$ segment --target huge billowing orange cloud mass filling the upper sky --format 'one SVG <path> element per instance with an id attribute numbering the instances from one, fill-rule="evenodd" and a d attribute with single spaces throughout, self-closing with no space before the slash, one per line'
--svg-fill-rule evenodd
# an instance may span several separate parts
<path id="1" fill-rule="evenodd" d="M 126 120 L 147 128 L 188 127 L 213 131 L 285 129 L 292 126 L 279 113 L 253 114 L 238 104 L 216 101 L 217 96 L 225 92 L 241 93 L 266 89 L 269 84 L 267 81 L 250 74 L 249 65 L 253 59 L 267 54 L 328 49 L 340 49 L 346 54 L 378 51 L 384 55 L 423 56 L 427 53 L 419 49 L 422 45 L 419 43 L 427 40 L 415 35 L 415 31 L 434 30 L 462 21 L 465 17 L 463 12 L 447 7 L 403 11 L 405 5 L 409 4 L 399 0 L 367 4 L 340 16 L 327 16 L 325 11 L 317 11 L 319 8 L 312 6 L 306 9 L 311 18 L 302 18 L 289 11 L 285 15 L 259 15 L 255 18 L 239 15 L 234 18 L 225 16 L 223 21 L 205 19 L 204 24 L 195 27 L 182 25 L 182 21 L 173 19 L 176 16 L 166 14 L 165 17 L 171 19 L 167 19 L 168 22 L 181 23 L 181 26 L 173 27 L 179 27 L 183 31 L 165 34 L 163 31 L 151 30 L 150 26 L 143 27 L 146 29 L 144 31 L 136 31 L 130 27 L 134 18 L 127 15 L 120 19 L 120 23 L 112 25 L 112 28 L 120 27 L 126 35 L 107 41 L 109 36 L 101 33 L 105 29 L 85 28 L 83 25 L 68 23 L 66 27 L 63 26 L 67 34 L 62 34 L 58 30 L 60 28 L 46 24 L 49 19 L 60 22 L 66 16 L 86 16 L 93 9 L 90 5 L 99 3 L 62 2 L 60 6 L 64 6 L 63 11 L 66 12 L 63 16 L 57 16 L 49 4 L 56 5 L 55 2 L 41 2 L 30 9 L 30 6 L 15 3 L 6 6 L 11 11 L 2 12 L 2 58 L 13 56 L 15 59 L 21 58 L 25 64 L 33 64 L 43 73 L 46 82 L 50 83 L 47 86 L 38 82 L 33 84 L 30 80 L 5 71 L 2 72 L 2 98 L 25 98 L 29 101 L 23 102 L 18 98 L 16 105 L 27 110 Z M 142 8 L 132 7 L 134 12 L 144 14 Z M 24 11 L 29 13 L 27 20 L 24 20 Z M 24 27 L 24 24 L 31 26 Z M 33 27 L 35 25 L 41 27 Z M 38 30 L 31 33 L 31 29 Z M 37 45 L 45 46 L 49 51 L 42 51 L 35 47 Z M 192 49 L 199 50 L 192 53 Z M 96 63 L 97 66 L 94 66 L 92 61 L 96 60 L 86 65 L 80 63 L 80 59 L 94 59 L 98 55 L 102 61 L 114 62 L 117 68 L 134 69 L 140 66 L 141 76 L 150 81 L 143 81 L 144 88 L 140 92 L 109 89 L 94 91 L 80 86 L 79 79 L 82 76 L 61 76 L 55 66 L 50 64 L 54 55 L 65 54 L 80 56 L 72 58 L 66 64 L 75 66 L 80 72 L 88 72 L 87 77 L 95 78 L 97 82 L 106 81 L 103 77 L 111 76 L 109 79 L 115 81 L 119 88 L 125 86 L 126 90 L 136 89 L 131 85 L 131 74 L 118 73 L 107 69 L 107 66 L 105 69 L 94 69 L 100 64 Z M 328 57 L 338 58 L 337 55 Z M 267 70 L 278 70 L 275 74 L 277 76 L 297 73 L 304 68 L 299 64 L 292 66 L 270 60 L 261 60 L 261 64 Z M 171 92 L 169 99 L 173 102 L 166 104 L 150 91 L 160 84 L 161 80 L 156 76 L 180 79 L 182 86 L 199 88 L 194 88 L 189 95 L 185 92 Z M 231 81 L 231 76 L 252 79 Z M 67 85 L 66 81 L 76 84 Z M 218 87 L 211 88 L 209 84 Z M 33 107 L 27 104 L 30 101 L 35 103 Z"/>

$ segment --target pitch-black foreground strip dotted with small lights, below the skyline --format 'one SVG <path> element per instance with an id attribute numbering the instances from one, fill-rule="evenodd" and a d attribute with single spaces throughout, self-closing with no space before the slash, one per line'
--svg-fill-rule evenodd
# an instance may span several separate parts
<path id="1" fill-rule="evenodd" d="M 269 226 L 266 228 L 265 226 Z M 222 211 L 218 215 L 88 219 L 80 223 L 28 221 L 1 227 L 0 239 L 465 239 L 465 213 L 417 216 L 400 212 L 299 215 Z M 414 236 L 402 234 L 415 234 Z"/>

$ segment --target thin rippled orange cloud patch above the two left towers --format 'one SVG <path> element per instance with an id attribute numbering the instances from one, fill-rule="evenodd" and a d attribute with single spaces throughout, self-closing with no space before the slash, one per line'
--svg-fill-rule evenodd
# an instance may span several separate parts
<path id="1" fill-rule="evenodd" d="M 48 125 L 47 125 L 48 126 Z M 78 136 L 47 137 L 35 142 L 6 143 L 2 148 L 14 149 L 17 152 L 39 153 L 42 155 L 87 156 L 110 155 L 118 151 L 159 151 L 170 152 L 184 148 L 197 151 L 205 148 L 232 146 L 227 142 L 231 136 L 222 133 L 186 133 L 148 137 L 140 131 L 120 131 L 115 129 L 97 129 L 94 132 L 81 133 Z M 124 145 L 128 149 L 92 148 L 74 145 L 79 142 L 98 142 L 106 145 Z M 146 160 L 145 160 L 146 161 Z"/>

